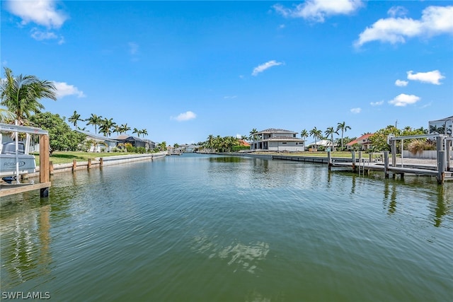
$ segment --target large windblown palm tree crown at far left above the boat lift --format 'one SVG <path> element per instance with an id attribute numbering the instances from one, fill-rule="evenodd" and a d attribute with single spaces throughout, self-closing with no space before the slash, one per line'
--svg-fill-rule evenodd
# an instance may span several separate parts
<path id="1" fill-rule="evenodd" d="M 22 74 L 14 77 L 11 69 L 5 68 L 5 79 L 0 82 L 0 105 L 16 115 L 19 124 L 30 117 L 31 112 L 45 109 L 38 102 L 41 98 L 57 100 L 56 88 L 50 81 L 40 80 L 36 76 Z"/>

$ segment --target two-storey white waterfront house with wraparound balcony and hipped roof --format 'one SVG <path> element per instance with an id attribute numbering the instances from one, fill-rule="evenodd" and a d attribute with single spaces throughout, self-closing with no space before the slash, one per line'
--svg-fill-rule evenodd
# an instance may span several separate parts
<path id="1" fill-rule="evenodd" d="M 297 132 L 285 129 L 265 129 L 253 135 L 252 151 L 304 151 L 305 141 Z"/>

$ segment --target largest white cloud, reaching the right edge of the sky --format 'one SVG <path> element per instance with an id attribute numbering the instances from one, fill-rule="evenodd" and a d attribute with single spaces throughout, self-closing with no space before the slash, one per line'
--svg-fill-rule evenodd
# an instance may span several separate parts
<path id="1" fill-rule="evenodd" d="M 404 43 L 411 37 L 431 37 L 452 33 L 453 6 L 428 6 L 423 10 L 420 20 L 394 17 L 378 20 L 360 33 L 355 46 L 360 47 L 372 41 Z"/>

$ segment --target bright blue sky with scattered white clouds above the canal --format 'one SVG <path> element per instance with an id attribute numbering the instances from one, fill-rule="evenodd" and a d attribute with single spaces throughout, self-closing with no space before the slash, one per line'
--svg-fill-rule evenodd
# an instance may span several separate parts
<path id="1" fill-rule="evenodd" d="M 453 115 L 453 1 L 1 1 L 0 50 L 47 111 L 168 144 Z"/>

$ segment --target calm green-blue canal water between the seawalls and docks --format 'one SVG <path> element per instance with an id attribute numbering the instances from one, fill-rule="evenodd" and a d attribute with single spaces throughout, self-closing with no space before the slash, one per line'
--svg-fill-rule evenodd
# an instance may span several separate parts
<path id="1" fill-rule="evenodd" d="M 1 199 L 1 292 L 54 301 L 452 301 L 453 182 L 184 154 Z"/>

